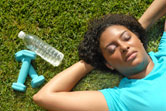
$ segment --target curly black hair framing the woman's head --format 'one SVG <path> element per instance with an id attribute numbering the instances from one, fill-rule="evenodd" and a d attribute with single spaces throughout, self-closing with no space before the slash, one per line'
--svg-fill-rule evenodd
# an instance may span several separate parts
<path id="1" fill-rule="evenodd" d="M 78 47 L 79 57 L 96 69 L 110 71 L 105 65 L 105 59 L 99 48 L 99 38 L 101 34 L 112 25 L 122 25 L 135 33 L 147 49 L 146 31 L 133 16 L 124 14 L 109 14 L 101 18 L 96 18 L 89 23 L 83 41 Z"/>

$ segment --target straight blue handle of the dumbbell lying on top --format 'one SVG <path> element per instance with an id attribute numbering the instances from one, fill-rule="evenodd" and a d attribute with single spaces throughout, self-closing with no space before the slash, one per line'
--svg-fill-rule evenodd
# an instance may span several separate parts
<path id="1" fill-rule="evenodd" d="M 23 58 L 22 59 L 22 66 L 20 69 L 20 73 L 17 79 L 18 83 L 25 83 L 26 77 L 28 75 L 29 72 L 29 67 L 30 67 L 30 63 L 31 63 L 31 59 L 30 58 Z"/>

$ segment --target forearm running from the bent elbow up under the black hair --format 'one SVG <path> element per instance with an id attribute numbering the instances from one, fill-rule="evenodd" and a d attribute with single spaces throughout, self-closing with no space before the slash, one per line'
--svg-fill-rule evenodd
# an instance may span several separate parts
<path id="1" fill-rule="evenodd" d="M 39 92 L 67 92 L 70 91 L 75 84 L 90 72 L 93 67 L 84 61 L 79 61 L 66 70 L 57 74 L 52 78 Z"/>

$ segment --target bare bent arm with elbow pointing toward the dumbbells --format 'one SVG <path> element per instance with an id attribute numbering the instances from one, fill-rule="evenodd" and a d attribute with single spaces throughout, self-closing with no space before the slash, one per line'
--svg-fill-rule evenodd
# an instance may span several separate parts
<path id="1" fill-rule="evenodd" d="M 93 69 L 79 61 L 52 78 L 33 100 L 41 107 L 54 111 L 106 111 L 104 96 L 99 91 L 69 92 L 75 84 Z"/>

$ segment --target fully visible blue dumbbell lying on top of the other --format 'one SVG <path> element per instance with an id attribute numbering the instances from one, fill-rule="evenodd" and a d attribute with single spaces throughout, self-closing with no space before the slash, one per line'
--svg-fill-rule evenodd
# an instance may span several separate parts
<path id="1" fill-rule="evenodd" d="M 36 53 L 28 50 L 21 50 L 15 54 L 15 57 L 17 61 L 22 61 L 22 66 L 17 82 L 12 84 L 12 88 L 24 92 L 26 90 L 24 83 L 29 72 L 31 60 L 36 58 Z"/>

